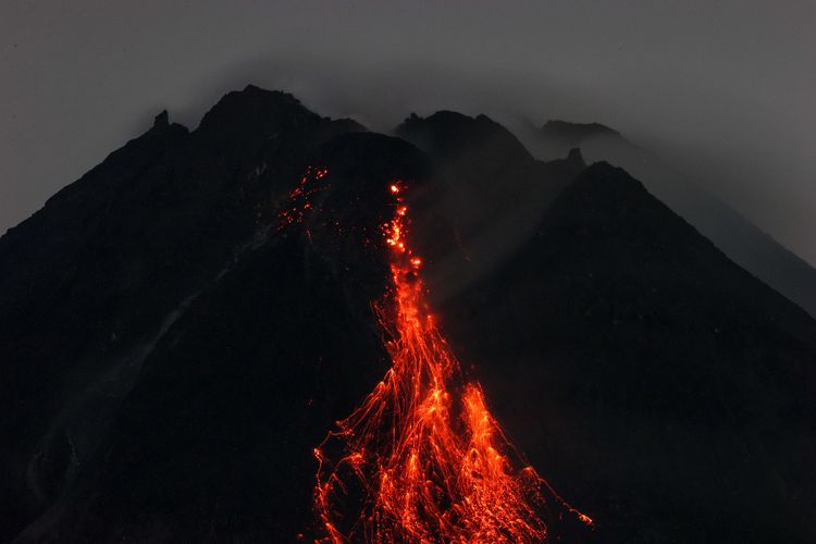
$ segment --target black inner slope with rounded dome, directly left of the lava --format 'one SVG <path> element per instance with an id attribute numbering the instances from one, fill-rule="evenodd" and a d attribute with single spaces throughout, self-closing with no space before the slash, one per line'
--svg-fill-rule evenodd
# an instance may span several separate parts
<path id="1" fill-rule="evenodd" d="M 379 135 L 337 138 L 314 158 L 331 172 L 320 203 L 331 223 L 270 234 L 197 297 L 57 521 L 26 537 L 276 542 L 311 526 L 312 450 L 388 367 L 370 308 L 387 281 L 388 182 L 423 169 Z"/>

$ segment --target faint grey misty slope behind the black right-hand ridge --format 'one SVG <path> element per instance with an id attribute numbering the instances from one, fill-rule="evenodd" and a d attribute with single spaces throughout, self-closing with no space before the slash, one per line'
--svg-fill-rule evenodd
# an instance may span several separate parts
<path id="1" fill-rule="evenodd" d="M 560 157 L 580 147 L 590 161 L 625 168 L 730 259 L 816 316 L 816 270 L 703 189 L 704 183 L 597 123 L 547 121 L 528 136 L 542 157 Z"/>

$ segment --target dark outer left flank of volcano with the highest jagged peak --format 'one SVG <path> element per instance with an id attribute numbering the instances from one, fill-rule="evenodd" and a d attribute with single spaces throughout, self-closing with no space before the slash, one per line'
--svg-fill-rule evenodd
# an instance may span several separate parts
<path id="1" fill-rule="evenodd" d="M 194 133 L 163 118 L 0 239 L 7 534 L 73 481 L 145 357 L 262 239 L 313 150 L 359 129 L 251 86 Z"/>

